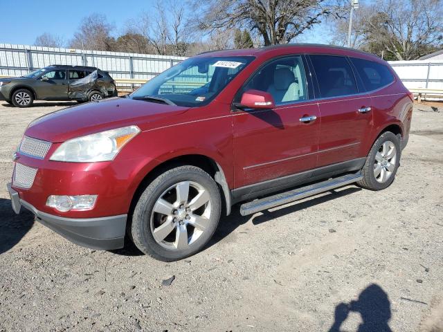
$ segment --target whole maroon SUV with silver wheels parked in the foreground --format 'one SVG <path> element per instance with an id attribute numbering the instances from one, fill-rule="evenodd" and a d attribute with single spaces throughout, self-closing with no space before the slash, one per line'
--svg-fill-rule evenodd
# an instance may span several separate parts
<path id="1" fill-rule="evenodd" d="M 220 215 L 356 183 L 394 181 L 413 101 L 383 60 L 316 45 L 187 59 L 125 98 L 30 123 L 12 208 L 82 246 L 172 261 L 201 250 Z"/>

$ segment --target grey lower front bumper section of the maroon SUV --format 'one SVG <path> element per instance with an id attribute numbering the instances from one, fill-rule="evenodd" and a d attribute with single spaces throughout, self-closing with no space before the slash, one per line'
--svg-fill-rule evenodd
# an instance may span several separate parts
<path id="1" fill-rule="evenodd" d="M 19 214 L 23 206 L 42 223 L 62 237 L 80 246 L 98 250 L 123 248 L 127 214 L 101 218 L 65 218 L 37 210 L 33 205 L 20 199 L 19 192 L 8 184 L 12 210 Z"/>

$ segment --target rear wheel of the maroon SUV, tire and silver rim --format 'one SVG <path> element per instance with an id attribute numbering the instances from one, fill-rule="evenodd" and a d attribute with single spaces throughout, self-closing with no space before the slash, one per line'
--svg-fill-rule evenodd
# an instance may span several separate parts
<path id="1" fill-rule="evenodd" d="M 363 179 L 356 184 L 368 190 L 383 190 L 389 187 L 397 174 L 400 156 L 398 136 L 390 131 L 382 133 L 372 145 L 361 169 Z"/>

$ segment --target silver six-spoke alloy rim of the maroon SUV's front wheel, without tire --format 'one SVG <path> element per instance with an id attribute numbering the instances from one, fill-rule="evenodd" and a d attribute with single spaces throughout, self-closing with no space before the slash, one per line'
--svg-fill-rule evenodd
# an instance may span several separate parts
<path id="1" fill-rule="evenodd" d="M 155 241 L 170 250 L 186 250 L 210 223 L 210 194 L 193 181 L 181 181 L 157 199 L 150 217 Z"/>

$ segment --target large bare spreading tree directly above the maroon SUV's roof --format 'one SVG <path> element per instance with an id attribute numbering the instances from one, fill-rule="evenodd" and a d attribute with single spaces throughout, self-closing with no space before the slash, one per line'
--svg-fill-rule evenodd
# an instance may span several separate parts
<path id="1" fill-rule="evenodd" d="M 289 43 L 338 10 L 326 0 L 194 0 L 194 6 L 200 8 L 195 20 L 201 30 L 246 26 L 265 46 Z"/>

